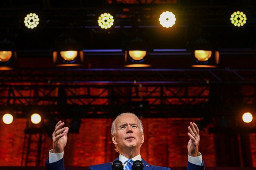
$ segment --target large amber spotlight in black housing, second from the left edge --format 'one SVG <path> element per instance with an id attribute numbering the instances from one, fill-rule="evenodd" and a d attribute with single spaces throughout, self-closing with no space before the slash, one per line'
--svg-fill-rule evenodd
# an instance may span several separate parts
<path id="1" fill-rule="evenodd" d="M 81 43 L 71 37 L 56 42 L 53 61 L 56 66 L 81 66 L 83 62 Z"/>

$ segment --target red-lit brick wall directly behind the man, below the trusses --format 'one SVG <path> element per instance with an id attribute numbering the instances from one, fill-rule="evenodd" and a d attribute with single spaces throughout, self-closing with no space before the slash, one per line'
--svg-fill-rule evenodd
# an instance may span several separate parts
<path id="1" fill-rule="evenodd" d="M 145 142 L 141 148 L 142 157 L 150 164 L 167 167 L 185 167 L 187 164 L 187 126 L 190 121 L 199 119 L 190 118 L 142 118 L 144 125 Z M 112 119 L 82 119 L 79 134 L 69 134 L 65 148 L 66 166 L 83 166 L 110 162 L 118 154 L 114 152 L 111 141 L 110 128 Z M 24 146 L 24 129 L 26 119 L 15 119 L 10 125 L 0 121 L 0 166 L 21 166 Z M 207 129 L 200 131 L 201 141 L 199 151 L 207 167 L 216 166 L 214 135 L 208 134 Z M 39 135 L 34 135 L 34 141 Z M 51 138 L 42 136 L 40 166 L 52 147 Z M 253 166 L 256 167 L 255 134 L 250 135 Z M 37 149 L 37 143 L 32 142 L 31 148 Z M 26 151 L 26 150 L 25 150 Z M 33 151 L 31 151 L 32 153 Z M 35 166 L 36 154 L 29 157 Z M 219 153 L 218 153 L 219 154 Z M 25 155 L 23 157 L 25 159 Z M 34 161 L 34 162 L 33 162 Z"/>

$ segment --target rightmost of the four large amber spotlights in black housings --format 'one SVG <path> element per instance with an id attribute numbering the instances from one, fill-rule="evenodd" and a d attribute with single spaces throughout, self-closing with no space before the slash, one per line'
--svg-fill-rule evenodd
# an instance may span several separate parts
<path id="1" fill-rule="evenodd" d="M 217 67 L 219 51 L 216 43 L 200 38 L 190 45 L 190 50 L 194 58 L 192 67 Z"/>

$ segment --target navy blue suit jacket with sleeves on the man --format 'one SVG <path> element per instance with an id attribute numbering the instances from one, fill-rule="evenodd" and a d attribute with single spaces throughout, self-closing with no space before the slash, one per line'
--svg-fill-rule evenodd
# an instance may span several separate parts
<path id="1" fill-rule="evenodd" d="M 116 160 L 118 160 L 118 158 Z M 142 159 L 142 162 L 144 163 L 143 170 L 170 170 L 170 168 L 150 165 L 144 159 Z M 63 158 L 54 163 L 49 163 L 49 160 L 47 159 L 45 164 L 46 164 L 47 170 L 65 170 Z M 195 165 L 190 162 L 187 162 L 187 169 L 188 170 L 204 170 L 205 165 L 203 163 L 203 166 L 199 166 L 199 165 Z M 89 167 L 89 170 L 112 170 L 112 162 L 98 164 L 98 165 L 91 165 Z"/>

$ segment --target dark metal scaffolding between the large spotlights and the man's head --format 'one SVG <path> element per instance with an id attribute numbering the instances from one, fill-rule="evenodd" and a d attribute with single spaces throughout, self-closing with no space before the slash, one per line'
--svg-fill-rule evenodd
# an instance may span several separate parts
<path id="1" fill-rule="evenodd" d="M 20 69 L 1 71 L 1 112 L 26 117 L 205 117 L 254 105 L 254 69 Z M 47 117 L 47 116 L 46 116 Z"/>

